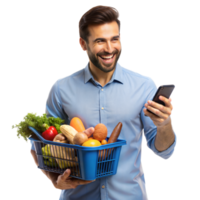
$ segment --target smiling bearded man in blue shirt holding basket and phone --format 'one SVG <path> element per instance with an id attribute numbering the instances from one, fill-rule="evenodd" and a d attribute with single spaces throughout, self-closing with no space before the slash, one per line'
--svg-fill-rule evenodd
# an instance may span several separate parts
<path id="1" fill-rule="evenodd" d="M 122 33 L 117 12 L 110 6 L 94 6 L 84 13 L 78 27 L 79 45 L 87 54 L 88 63 L 53 83 L 45 112 L 68 124 L 73 117 L 79 117 L 88 128 L 86 134 L 103 123 L 109 136 L 122 122 L 119 138 L 127 144 L 122 147 L 114 176 L 83 181 L 70 178 L 70 170 L 62 175 L 41 170 L 55 189 L 61 190 L 59 200 L 146 200 L 143 134 L 147 147 L 163 159 L 169 159 L 175 149 L 171 99 L 160 97 L 165 106 L 149 101 L 157 90 L 155 81 L 118 62 Z M 64 139 L 62 135 L 58 137 Z M 31 155 L 37 165 L 32 144 Z"/>

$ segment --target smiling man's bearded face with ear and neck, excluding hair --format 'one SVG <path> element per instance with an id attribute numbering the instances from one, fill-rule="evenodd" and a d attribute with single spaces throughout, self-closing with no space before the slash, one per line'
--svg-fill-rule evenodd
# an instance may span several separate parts
<path id="1" fill-rule="evenodd" d="M 116 21 L 91 25 L 88 31 L 88 41 L 80 37 L 80 46 L 87 52 L 93 77 L 104 86 L 110 81 L 121 56 L 122 34 Z"/>

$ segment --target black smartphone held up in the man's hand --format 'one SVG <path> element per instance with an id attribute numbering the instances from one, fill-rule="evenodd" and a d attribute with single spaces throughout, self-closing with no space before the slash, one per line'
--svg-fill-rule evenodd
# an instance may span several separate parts
<path id="1" fill-rule="evenodd" d="M 159 96 L 164 96 L 169 99 L 169 97 L 175 92 L 176 84 L 161 84 L 158 87 L 156 94 L 154 95 L 152 101 L 162 104 L 165 106 L 165 103 L 159 99 Z M 152 113 L 147 109 L 148 112 Z M 154 114 L 154 113 L 153 113 Z"/>

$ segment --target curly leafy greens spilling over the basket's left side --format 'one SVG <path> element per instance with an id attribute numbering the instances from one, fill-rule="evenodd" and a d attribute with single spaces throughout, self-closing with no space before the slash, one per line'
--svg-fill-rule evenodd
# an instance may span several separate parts
<path id="1" fill-rule="evenodd" d="M 47 124 L 48 126 L 54 126 L 58 133 L 61 133 L 60 125 L 64 123 L 64 121 L 65 120 L 59 117 L 47 117 L 46 113 L 31 111 L 23 115 L 18 122 L 11 124 L 9 129 L 15 130 L 15 137 L 17 140 L 23 140 L 28 143 L 28 138 L 33 135 L 33 132 L 28 128 L 29 126 L 32 126 L 42 134 L 46 130 L 43 124 Z"/>

